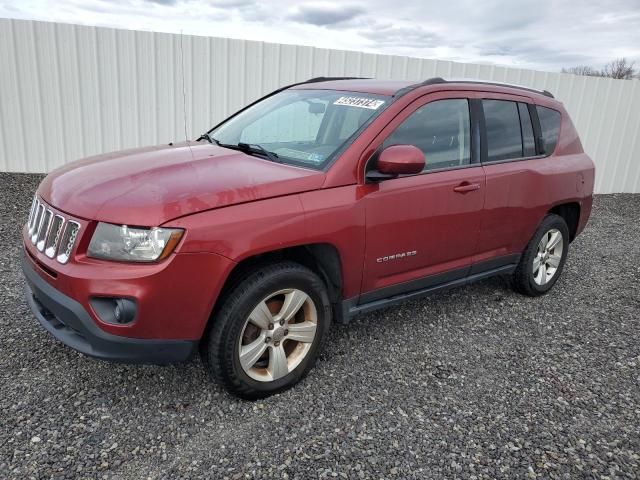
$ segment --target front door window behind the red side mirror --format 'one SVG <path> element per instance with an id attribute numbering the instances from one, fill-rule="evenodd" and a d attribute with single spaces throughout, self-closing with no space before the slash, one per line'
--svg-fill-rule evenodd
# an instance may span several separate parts
<path id="1" fill-rule="evenodd" d="M 471 124 L 466 99 L 436 100 L 413 112 L 384 146 L 415 145 L 424 152 L 425 171 L 471 163 Z"/>

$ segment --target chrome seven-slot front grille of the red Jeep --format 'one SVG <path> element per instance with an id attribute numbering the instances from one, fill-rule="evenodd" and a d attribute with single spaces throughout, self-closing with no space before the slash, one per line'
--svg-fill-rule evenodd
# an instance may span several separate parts
<path id="1" fill-rule="evenodd" d="M 80 232 L 80 224 L 54 213 L 36 196 L 31 204 L 28 220 L 31 243 L 49 258 L 67 263 Z"/>

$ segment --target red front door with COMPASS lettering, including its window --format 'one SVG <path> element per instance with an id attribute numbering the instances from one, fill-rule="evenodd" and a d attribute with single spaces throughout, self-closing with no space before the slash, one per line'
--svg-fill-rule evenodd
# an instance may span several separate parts
<path id="1" fill-rule="evenodd" d="M 465 92 L 416 100 L 374 141 L 409 144 L 426 159 L 421 174 L 367 184 L 361 303 L 467 275 L 485 195 L 479 131 Z"/>

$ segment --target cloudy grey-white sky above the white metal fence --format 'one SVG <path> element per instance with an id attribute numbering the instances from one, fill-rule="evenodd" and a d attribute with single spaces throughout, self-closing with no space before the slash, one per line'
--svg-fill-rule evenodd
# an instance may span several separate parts
<path id="1" fill-rule="evenodd" d="M 550 71 L 640 65 L 640 0 L 0 0 L 0 17 Z"/>

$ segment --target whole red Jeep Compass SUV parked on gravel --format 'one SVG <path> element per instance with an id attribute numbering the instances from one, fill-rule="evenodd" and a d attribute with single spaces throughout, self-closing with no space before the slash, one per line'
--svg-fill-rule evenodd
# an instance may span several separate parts
<path id="1" fill-rule="evenodd" d="M 509 274 L 558 280 L 594 165 L 548 92 L 433 78 L 318 78 L 197 141 L 45 178 L 24 227 L 27 298 L 108 360 L 198 348 L 245 398 L 299 381 L 332 320 Z"/>

